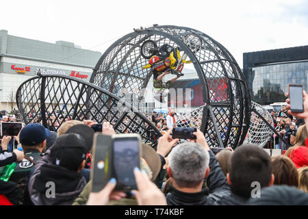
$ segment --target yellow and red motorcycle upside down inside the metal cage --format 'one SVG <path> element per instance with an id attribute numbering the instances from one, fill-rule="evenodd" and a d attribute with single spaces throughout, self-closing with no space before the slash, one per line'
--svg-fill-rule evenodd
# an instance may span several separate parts
<path id="1" fill-rule="evenodd" d="M 171 74 L 183 76 L 181 72 L 184 64 L 192 63 L 190 60 L 186 60 L 188 55 L 185 52 L 181 55 L 179 47 L 175 49 L 168 44 L 157 47 L 153 40 L 143 42 L 141 55 L 144 59 L 149 60 L 149 64 L 142 66 L 142 69 L 151 68 L 151 70 L 157 70 L 160 73 L 169 71 Z"/>

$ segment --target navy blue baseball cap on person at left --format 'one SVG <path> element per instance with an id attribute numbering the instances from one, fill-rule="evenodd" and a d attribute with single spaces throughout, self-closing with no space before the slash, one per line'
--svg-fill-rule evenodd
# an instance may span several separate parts
<path id="1" fill-rule="evenodd" d="M 27 146 L 33 146 L 44 142 L 51 135 L 49 129 L 45 129 L 38 123 L 31 123 L 21 129 L 19 134 L 19 142 Z"/>

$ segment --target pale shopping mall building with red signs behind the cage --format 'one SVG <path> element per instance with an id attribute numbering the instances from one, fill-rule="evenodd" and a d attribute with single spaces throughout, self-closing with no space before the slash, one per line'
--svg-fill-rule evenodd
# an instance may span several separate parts
<path id="1" fill-rule="evenodd" d="M 73 42 L 42 42 L 0 30 L 0 110 L 10 112 L 18 86 L 38 72 L 89 81 L 100 57 L 100 52 L 81 49 Z"/>

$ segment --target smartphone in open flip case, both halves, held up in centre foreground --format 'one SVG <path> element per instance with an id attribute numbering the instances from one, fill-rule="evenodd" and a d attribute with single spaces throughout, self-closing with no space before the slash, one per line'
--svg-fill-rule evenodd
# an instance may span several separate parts
<path id="1" fill-rule="evenodd" d="M 138 134 L 107 136 L 95 133 L 93 139 L 94 163 L 91 170 L 92 192 L 101 191 L 111 178 L 116 178 L 115 190 L 136 190 L 133 169 L 140 168 L 142 154 Z"/>

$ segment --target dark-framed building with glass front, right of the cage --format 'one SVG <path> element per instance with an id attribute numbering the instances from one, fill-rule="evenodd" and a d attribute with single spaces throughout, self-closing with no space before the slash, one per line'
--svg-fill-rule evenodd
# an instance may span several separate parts
<path id="1" fill-rule="evenodd" d="M 284 102 L 288 83 L 307 92 L 308 46 L 244 53 L 243 67 L 252 101 L 261 105 Z"/>

